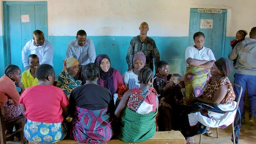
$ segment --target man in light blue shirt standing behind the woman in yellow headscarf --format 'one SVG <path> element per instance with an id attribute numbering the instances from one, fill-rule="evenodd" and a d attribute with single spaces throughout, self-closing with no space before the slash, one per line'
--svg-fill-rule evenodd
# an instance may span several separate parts
<path id="1" fill-rule="evenodd" d="M 84 30 L 78 30 L 76 39 L 72 40 L 68 44 L 66 50 L 66 58 L 74 57 L 79 62 L 79 72 L 83 70 L 83 66 L 88 63 L 94 63 L 96 58 L 95 48 L 93 40 L 87 38 L 87 34 Z M 85 79 L 82 77 L 82 82 L 85 83 Z"/>

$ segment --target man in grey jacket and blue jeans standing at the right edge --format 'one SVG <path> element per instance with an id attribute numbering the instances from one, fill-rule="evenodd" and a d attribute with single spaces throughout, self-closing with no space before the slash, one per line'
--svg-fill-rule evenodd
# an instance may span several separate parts
<path id="1" fill-rule="evenodd" d="M 242 120 L 245 123 L 244 97 L 245 90 L 250 101 L 249 122 L 254 124 L 256 117 L 256 27 L 250 31 L 250 38 L 239 42 L 228 55 L 229 60 L 237 59 L 235 64 L 235 81 L 234 83 L 243 87 L 241 100 L 239 103 Z M 236 100 L 239 95 L 239 89 L 234 88 Z"/>

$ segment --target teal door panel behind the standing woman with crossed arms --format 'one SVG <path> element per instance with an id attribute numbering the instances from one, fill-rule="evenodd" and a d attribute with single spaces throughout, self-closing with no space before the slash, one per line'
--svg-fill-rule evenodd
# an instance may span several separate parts
<path id="1" fill-rule="evenodd" d="M 200 27 L 201 19 L 212 20 L 211 28 Z M 217 59 L 224 57 L 226 38 L 227 10 L 222 9 L 222 13 L 198 12 L 198 9 L 190 9 L 189 45 L 195 45 L 193 35 L 195 32 L 205 34 L 205 47 L 214 53 Z"/>

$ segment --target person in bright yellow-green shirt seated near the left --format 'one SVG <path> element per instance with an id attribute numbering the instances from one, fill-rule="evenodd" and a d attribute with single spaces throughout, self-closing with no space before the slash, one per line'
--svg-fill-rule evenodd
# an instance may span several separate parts
<path id="1" fill-rule="evenodd" d="M 21 82 L 25 89 L 38 85 L 38 79 L 36 78 L 36 68 L 39 66 L 39 58 L 37 55 L 32 54 L 28 56 L 29 69 L 22 73 Z"/>

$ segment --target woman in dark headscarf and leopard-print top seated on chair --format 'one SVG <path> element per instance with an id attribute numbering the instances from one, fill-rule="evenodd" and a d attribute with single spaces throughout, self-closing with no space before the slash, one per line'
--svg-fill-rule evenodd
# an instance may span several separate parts
<path id="1" fill-rule="evenodd" d="M 233 122 L 239 110 L 235 111 L 237 102 L 228 79 L 231 72 L 230 61 L 223 57 L 218 59 L 211 68 L 212 77 L 203 94 L 186 100 L 187 106 L 181 117 L 181 132 L 186 137 L 186 143 L 194 142 L 191 136 L 205 133 L 206 127 L 225 128 Z"/>

